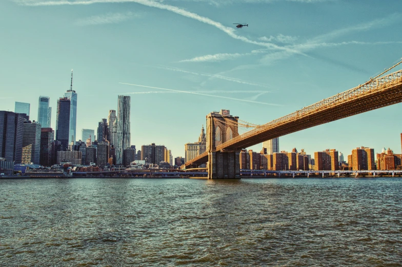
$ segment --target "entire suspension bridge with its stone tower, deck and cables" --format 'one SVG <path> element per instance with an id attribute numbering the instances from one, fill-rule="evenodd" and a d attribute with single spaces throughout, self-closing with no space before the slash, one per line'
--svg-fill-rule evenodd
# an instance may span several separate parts
<path id="1" fill-rule="evenodd" d="M 240 178 L 239 153 L 263 141 L 402 102 L 402 70 L 396 65 L 366 83 L 338 93 L 264 125 L 253 125 L 225 111 L 207 115 L 206 152 L 185 163 L 207 163 L 209 179 Z M 239 127 L 252 130 L 239 134 Z"/>

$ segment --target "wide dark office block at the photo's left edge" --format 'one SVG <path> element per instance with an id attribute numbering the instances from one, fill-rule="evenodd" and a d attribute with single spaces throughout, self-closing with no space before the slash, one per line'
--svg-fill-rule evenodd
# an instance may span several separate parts
<path id="1" fill-rule="evenodd" d="M 24 116 L 11 111 L 0 111 L 0 158 L 21 164 L 23 134 Z"/>

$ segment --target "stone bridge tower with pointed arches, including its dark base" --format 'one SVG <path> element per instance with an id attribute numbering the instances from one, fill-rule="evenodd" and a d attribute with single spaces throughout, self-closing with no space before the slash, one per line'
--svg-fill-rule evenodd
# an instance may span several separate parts
<path id="1" fill-rule="evenodd" d="M 240 150 L 216 150 L 239 135 L 237 121 L 229 110 L 207 115 L 208 179 L 240 178 Z"/>

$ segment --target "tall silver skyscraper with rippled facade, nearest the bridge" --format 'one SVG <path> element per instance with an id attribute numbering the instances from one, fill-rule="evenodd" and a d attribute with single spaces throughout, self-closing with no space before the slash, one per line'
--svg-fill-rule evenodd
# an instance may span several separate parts
<path id="1" fill-rule="evenodd" d="M 116 164 L 123 164 L 123 150 L 131 146 L 130 133 L 130 101 L 127 95 L 118 96 L 117 105 L 117 134 L 116 134 Z"/>

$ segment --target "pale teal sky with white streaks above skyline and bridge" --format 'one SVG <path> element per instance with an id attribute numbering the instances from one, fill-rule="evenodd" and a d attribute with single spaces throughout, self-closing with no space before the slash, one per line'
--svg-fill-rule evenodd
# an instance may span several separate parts
<path id="1" fill-rule="evenodd" d="M 49 96 L 55 129 L 74 69 L 77 138 L 130 95 L 132 145 L 154 142 L 184 157 L 212 111 L 265 124 L 393 66 L 401 23 L 400 0 L 2 0 L 0 110 L 29 102 L 36 120 L 38 97 Z M 401 111 L 292 133 L 279 147 L 401 153 Z"/>

